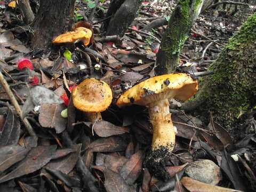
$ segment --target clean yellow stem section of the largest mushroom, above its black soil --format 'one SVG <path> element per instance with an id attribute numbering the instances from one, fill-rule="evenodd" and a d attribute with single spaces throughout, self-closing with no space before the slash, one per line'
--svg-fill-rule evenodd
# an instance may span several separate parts
<path id="1" fill-rule="evenodd" d="M 150 103 L 148 111 L 150 122 L 153 125 L 151 149 L 165 148 L 171 152 L 175 144 L 175 130 L 172 124 L 168 99 Z"/>

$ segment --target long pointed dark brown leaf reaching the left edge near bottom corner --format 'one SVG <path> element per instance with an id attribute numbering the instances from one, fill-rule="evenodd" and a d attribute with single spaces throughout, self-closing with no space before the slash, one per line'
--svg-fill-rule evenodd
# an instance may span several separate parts
<path id="1" fill-rule="evenodd" d="M 0 183 L 33 173 L 48 163 L 57 146 L 38 146 L 30 150 L 27 157 L 10 173 L 0 178 Z"/>

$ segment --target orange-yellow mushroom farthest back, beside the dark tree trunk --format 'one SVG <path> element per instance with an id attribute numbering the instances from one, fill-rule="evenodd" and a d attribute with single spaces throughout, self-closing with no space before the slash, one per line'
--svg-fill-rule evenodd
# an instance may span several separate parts
<path id="1" fill-rule="evenodd" d="M 66 34 L 61 34 L 52 43 L 74 43 L 77 41 L 82 41 L 85 46 L 89 45 L 90 39 L 92 37 L 92 31 L 85 27 L 78 27 L 75 31 L 69 31 Z"/>

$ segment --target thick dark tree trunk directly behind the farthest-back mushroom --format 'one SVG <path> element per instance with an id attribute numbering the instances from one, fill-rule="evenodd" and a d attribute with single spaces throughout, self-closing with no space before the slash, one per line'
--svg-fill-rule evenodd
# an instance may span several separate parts
<path id="1" fill-rule="evenodd" d="M 75 0 L 42 0 L 34 23 L 32 47 L 47 48 L 54 36 L 71 29 Z"/>

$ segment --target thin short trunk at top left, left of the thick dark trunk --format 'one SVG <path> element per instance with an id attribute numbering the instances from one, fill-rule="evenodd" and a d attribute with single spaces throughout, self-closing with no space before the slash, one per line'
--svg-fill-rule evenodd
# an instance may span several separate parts
<path id="1" fill-rule="evenodd" d="M 19 0 L 19 8 L 26 24 L 30 24 L 35 19 L 35 15 L 31 10 L 29 0 Z"/>

